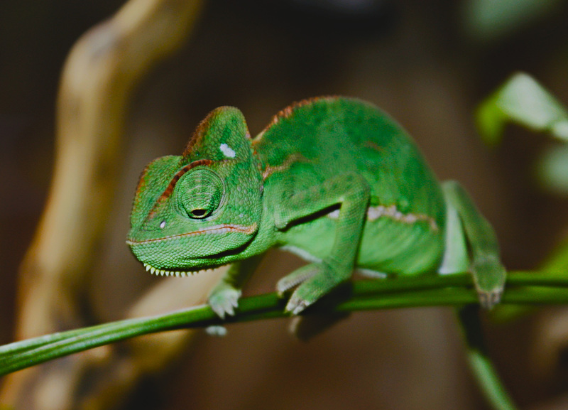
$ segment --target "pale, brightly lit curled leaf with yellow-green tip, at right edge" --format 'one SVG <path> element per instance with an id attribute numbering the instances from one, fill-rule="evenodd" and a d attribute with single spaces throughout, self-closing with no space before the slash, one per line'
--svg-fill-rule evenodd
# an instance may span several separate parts
<path id="1" fill-rule="evenodd" d="M 568 112 L 550 92 L 530 75 L 519 72 L 488 97 L 476 112 L 477 126 L 484 140 L 501 141 L 507 122 L 533 131 L 547 131 L 568 141 Z"/>

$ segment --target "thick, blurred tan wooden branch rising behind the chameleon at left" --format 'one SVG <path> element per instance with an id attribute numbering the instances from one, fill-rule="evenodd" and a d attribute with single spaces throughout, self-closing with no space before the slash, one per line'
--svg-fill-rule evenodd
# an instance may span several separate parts
<path id="1" fill-rule="evenodd" d="M 88 321 L 86 289 L 120 169 L 131 92 L 148 70 L 185 41 L 201 6 L 200 0 L 130 0 L 72 48 L 58 97 L 53 183 L 20 271 L 16 338 L 75 328 Z M 203 293 L 207 292 L 196 289 L 196 302 L 202 301 Z M 173 337 L 185 342 L 187 334 Z M 166 360 L 178 345 L 170 340 L 164 345 L 168 353 L 157 357 Z M 55 366 L 13 374 L 4 383 L 0 401 L 16 409 L 103 409 L 127 393 L 122 387 L 156 367 L 136 368 L 135 358 L 121 357 L 114 362 L 114 374 L 109 372 L 107 386 L 97 387 L 112 389 L 112 394 L 77 398 L 79 387 L 85 394 L 82 382 L 89 366 L 113 362 L 109 357 L 114 353 L 102 348 Z M 117 379 L 127 382 L 110 388 L 108 384 Z"/>

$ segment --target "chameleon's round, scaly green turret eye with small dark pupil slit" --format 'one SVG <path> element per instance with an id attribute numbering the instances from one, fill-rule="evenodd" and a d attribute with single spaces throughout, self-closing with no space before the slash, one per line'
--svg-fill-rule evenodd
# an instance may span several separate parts
<path id="1" fill-rule="evenodd" d="M 224 191 L 221 178 L 206 168 L 186 173 L 175 189 L 180 213 L 196 220 L 209 217 L 217 210 Z"/>

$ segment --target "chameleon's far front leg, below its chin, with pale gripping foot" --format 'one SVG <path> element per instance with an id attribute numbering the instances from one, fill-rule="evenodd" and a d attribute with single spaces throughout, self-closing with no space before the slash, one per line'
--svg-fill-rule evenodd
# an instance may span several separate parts
<path id="1" fill-rule="evenodd" d="M 260 264 L 262 257 L 263 254 L 260 254 L 231 264 L 209 292 L 207 304 L 220 318 L 224 319 L 225 315 L 234 315 L 234 308 L 239 306 L 241 288 Z"/>

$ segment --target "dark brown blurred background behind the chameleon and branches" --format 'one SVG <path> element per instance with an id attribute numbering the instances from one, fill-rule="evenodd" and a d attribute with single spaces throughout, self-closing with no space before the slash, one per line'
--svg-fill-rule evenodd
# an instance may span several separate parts
<path id="1" fill-rule="evenodd" d="M 12 340 L 16 274 L 48 193 L 55 97 L 77 38 L 122 1 L 0 3 L 0 342 Z M 207 112 L 239 107 L 256 134 L 291 102 L 368 99 L 398 120 L 440 179 L 460 180 L 493 223 L 510 269 L 532 269 L 566 234 L 568 202 L 534 177 L 547 139 L 511 126 L 488 149 L 474 109 L 513 72 L 568 103 L 566 1 L 210 0 L 194 36 L 138 87 L 122 180 L 100 249 L 102 320 L 121 317 L 157 280 L 124 244 L 136 179 L 151 159 L 178 154 Z M 492 9 L 493 7 L 493 9 Z M 503 7 L 503 9 L 500 9 Z M 524 8 L 524 9 L 523 9 Z M 271 291 L 289 271 L 275 254 L 246 293 Z M 447 309 L 359 313 L 298 342 L 283 320 L 235 325 L 202 339 L 185 362 L 142 389 L 132 408 L 479 409 Z M 496 361 L 525 407 L 565 394 L 562 363 L 530 362 L 535 320 L 489 326 Z M 140 398 L 141 397 L 141 398 Z"/>

